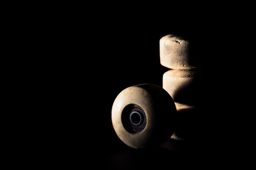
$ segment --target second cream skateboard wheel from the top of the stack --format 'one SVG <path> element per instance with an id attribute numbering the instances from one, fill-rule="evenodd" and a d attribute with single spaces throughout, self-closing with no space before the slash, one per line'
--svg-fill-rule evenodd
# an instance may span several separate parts
<path id="1" fill-rule="evenodd" d="M 175 102 L 191 106 L 198 103 L 200 84 L 198 72 L 195 70 L 171 69 L 163 75 L 163 88 Z"/>

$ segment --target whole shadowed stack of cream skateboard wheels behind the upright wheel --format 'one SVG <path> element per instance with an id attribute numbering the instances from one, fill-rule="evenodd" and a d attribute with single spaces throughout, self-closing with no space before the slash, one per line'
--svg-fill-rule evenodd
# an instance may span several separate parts
<path id="1" fill-rule="evenodd" d="M 198 64 L 191 54 L 191 41 L 176 35 L 160 39 L 160 63 L 170 70 L 163 75 L 163 89 L 174 99 L 178 117 L 171 139 L 185 140 L 193 132 L 198 110 Z"/>

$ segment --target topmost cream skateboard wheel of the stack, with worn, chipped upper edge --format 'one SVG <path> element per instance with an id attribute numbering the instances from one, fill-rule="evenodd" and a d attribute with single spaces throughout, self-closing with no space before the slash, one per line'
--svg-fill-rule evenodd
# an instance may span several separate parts
<path id="1" fill-rule="evenodd" d="M 160 63 L 170 69 L 196 69 L 191 61 L 190 42 L 176 35 L 166 35 L 160 39 Z"/>

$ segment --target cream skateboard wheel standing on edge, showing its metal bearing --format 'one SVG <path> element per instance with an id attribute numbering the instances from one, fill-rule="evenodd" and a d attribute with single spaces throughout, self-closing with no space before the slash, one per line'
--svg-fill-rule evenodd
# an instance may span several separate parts
<path id="1" fill-rule="evenodd" d="M 112 106 L 112 124 L 129 147 L 159 145 L 174 132 L 176 106 L 167 91 L 154 84 L 139 84 L 121 91 Z"/>

